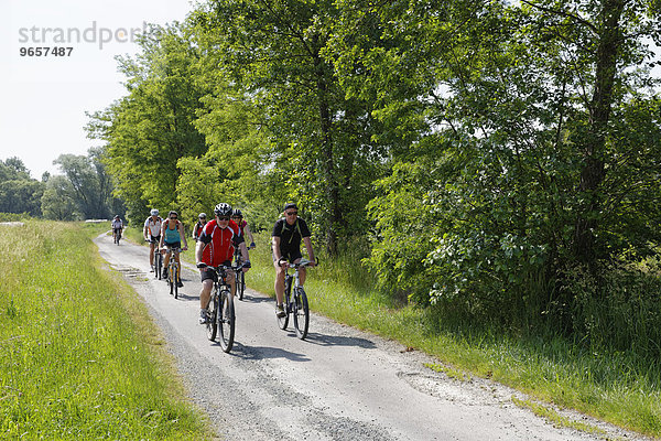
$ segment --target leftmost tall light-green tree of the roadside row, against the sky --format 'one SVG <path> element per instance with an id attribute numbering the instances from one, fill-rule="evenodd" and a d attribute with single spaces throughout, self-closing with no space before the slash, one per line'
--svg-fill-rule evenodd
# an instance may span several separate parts
<path id="1" fill-rule="evenodd" d="M 90 138 L 107 142 L 104 162 L 128 216 L 140 222 L 150 207 L 175 207 L 177 161 L 204 154 L 193 121 L 204 87 L 194 82 L 197 49 L 184 25 L 152 26 L 134 57 L 120 57 L 128 95 L 90 115 Z"/>

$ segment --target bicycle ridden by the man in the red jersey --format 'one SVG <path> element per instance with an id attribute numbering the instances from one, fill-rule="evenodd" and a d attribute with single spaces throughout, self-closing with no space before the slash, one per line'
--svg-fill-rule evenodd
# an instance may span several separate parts
<path id="1" fill-rule="evenodd" d="M 207 271 L 216 271 L 218 276 L 212 289 L 212 297 L 207 305 L 207 337 L 214 342 L 218 331 L 220 332 L 220 347 L 224 352 L 231 351 L 235 337 L 235 309 L 230 292 L 230 284 L 227 281 L 229 271 L 238 271 L 241 267 L 221 265 L 219 267 L 209 267 L 205 263 L 198 263 L 197 268 L 207 268 Z"/>

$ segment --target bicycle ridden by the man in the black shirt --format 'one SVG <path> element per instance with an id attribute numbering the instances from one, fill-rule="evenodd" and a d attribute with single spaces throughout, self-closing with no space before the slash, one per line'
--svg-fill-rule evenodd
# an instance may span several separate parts
<path id="1" fill-rule="evenodd" d="M 301 259 L 299 263 L 290 265 L 284 273 L 284 312 L 285 315 L 278 318 L 278 325 L 281 330 L 286 330 L 289 324 L 289 316 L 292 314 L 294 329 L 296 330 L 296 336 L 304 340 L 307 336 L 307 329 L 310 326 L 310 308 L 307 305 L 307 295 L 305 290 L 301 286 L 299 270 L 312 263 L 306 259 Z M 294 270 L 293 275 L 290 275 L 290 269 Z M 292 293 L 293 284 L 293 293 Z"/>

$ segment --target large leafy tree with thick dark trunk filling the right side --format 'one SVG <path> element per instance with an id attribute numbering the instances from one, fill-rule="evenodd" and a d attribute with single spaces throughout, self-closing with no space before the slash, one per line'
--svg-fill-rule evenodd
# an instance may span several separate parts
<path id="1" fill-rule="evenodd" d="M 503 305 L 539 316 L 575 305 L 561 287 L 576 262 L 658 243 L 659 98 L 643 40 L 659 37 L 657 6 L 338 4 L 338 77 L 391 141 L 393 174 L 370 204 L 383 280 L 494 321 Z M 398 201 L 426 227 L 393 213 Z"/>

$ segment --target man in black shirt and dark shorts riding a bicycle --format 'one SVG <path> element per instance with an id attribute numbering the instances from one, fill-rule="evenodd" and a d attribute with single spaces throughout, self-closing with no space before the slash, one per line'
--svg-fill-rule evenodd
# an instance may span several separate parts
<path id="1" fill-rule="evenodd" d="M 275 267 L 275 314 L 279 318 L 286 315 L 282 300 L 284 298 L 284 275 L 290 263 L 299 263 L 301 254 L 301 239 L 305 244 L 310 266 L 314 267 L 314 251 L 310 239 L 307 223 L 299 217 L 299 207 L 293 202 L 284 205 L 284 217 L 275 222 L 271 233 L 271 247 L 273 249 L 273 266 Z M 299 271 L 301 286 L 305 282 L 305 268 Z"/>

